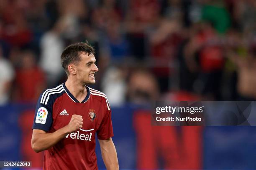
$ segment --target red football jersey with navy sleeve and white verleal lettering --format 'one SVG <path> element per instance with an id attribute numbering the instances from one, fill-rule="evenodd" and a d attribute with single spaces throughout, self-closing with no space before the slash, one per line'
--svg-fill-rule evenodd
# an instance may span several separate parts
<path id="1" fill-rule="evenodd" d="M 33 129 L 48 133 L 66 126 L 72 115 L 82 115 L 83 127 L 68 134 L 45 150 L 44 170 L 97 170 L 95 135 L 100 140 L 113 137 L 111 110 L 104 93 L 87 87 L 87 96 L 80 103 L 65 84 L 45 90 L 39 97 Z"/>

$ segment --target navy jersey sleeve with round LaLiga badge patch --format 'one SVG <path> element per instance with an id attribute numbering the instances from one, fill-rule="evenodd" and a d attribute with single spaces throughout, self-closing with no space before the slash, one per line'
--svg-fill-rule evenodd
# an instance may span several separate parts
<path id="1" fill-rule="evenodd" d="M 32 129 L 40 129 L 48 132 L 52 124 L 52 104 L 48 102 L 47 105 L 41 102 L 42 93 L 38 99 L 35 110 L 35 117 Z"/>

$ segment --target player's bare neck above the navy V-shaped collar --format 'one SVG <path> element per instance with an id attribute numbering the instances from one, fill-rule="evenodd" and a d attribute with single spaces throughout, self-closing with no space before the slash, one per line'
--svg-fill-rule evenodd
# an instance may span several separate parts
<path id="1" fill-rule="evenodd" d="M 87 95 L 87 89 L 85 85 L 79 83 L 77 80 L 67 79 L 65 85 L 69 92 L 79 101 L 82 102 Z"/>

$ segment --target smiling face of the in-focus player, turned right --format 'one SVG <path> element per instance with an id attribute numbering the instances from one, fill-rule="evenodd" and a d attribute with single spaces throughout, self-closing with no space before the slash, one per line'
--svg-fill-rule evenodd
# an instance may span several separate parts
<path id="1" fill-rule="evenodd" d="M 99 71 L 95 65 L 96 59 L 93 54 L 80 54 L 81 60 L 76 64 L 77 68 L 77 79 L 83 84 L 94 84 L 95 77 L 94 73 Z"/>

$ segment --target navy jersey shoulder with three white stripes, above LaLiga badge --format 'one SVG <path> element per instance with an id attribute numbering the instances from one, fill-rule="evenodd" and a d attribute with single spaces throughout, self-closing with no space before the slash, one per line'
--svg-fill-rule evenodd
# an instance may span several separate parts
<path id="1" fill-rule="evenodd" d="M 56 98 L 63 95 L 64 93 L 65 89 L 62 84 L 49 87 L 41 93 L 38 102 L 44 105 L 48 105 L 49 101 L 51 101 L 50 103 L 52 103 Z"/>

